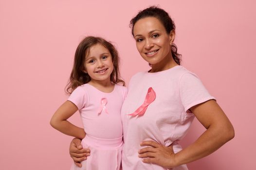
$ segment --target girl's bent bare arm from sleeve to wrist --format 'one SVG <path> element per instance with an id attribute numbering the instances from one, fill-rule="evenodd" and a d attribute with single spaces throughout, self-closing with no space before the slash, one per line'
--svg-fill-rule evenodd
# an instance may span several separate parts
<path id="1" fill-rule="evenodd" d="M 53 115 L 50 124 L 63 134 L 74 136 L 80 139 L 85 137 L 85 131 L 83 128 L 77 127 L 70 123 L 69 119 L 76 111 L 77 106 L 70 101 L 64 102 Z"/>

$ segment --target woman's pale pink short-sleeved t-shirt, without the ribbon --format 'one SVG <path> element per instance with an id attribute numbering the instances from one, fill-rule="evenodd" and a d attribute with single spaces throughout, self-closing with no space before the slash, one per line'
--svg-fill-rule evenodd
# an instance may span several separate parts
<path id="1" fill-rule="evenodd" d="M 156 93 L 155 100 L 149 104 L 143 116 L 129 116 L 144 102 L 149 87 Z M 173 143 L 174 152 L 181 151 L 178 141 L 185 136 L 194 119 L 189 108 L 211 99 L 214 97 L 199 78 L 182 66 L 134 75 L 121 110 L 124 130 L 123 170 L 166 170 L 156 164 L 142 162 L 138 157 L 138 150 L 142 148 L 140 142 L 153 140 L 165 146 Z M 182 165 L 173 170 L 187 170 L 187 167 Z"/>

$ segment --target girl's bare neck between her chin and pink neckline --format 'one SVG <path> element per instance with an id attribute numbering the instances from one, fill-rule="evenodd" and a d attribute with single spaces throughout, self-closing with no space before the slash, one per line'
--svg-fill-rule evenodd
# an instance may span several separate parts
<path id="1" fill-rule="evenodd" d="M 98 90 L 104 92 L 104 93 L 110 93 L 114 90 L 114 84 L 112 84 L 110 81 L 96 81 L 96 80 L 91 80 L 89 85 L 94 86 Z"/>

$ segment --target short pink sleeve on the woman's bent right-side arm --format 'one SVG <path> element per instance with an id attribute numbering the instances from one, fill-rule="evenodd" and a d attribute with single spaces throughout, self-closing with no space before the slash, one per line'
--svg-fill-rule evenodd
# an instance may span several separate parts
<path id="1" fill-rule="evenodd" d="M 206 90 L 197 75 L 188 72 L 180 78 L 180 97 L 185 112 L 197 104 L 214 99 Z"/>

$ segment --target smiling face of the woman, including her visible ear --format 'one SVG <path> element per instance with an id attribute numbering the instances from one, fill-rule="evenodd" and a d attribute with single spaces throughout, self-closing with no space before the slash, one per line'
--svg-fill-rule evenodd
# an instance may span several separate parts
<path id="1" fill-rule="evenodd" d="M 153 66 L 168 63 L 171 57 L 171 44 L 175 33 L 167 34 L 164 25 L 156 17 L 139 19 L 134 27 L 133 34 L 138 51 L 144 60 Z"/>

